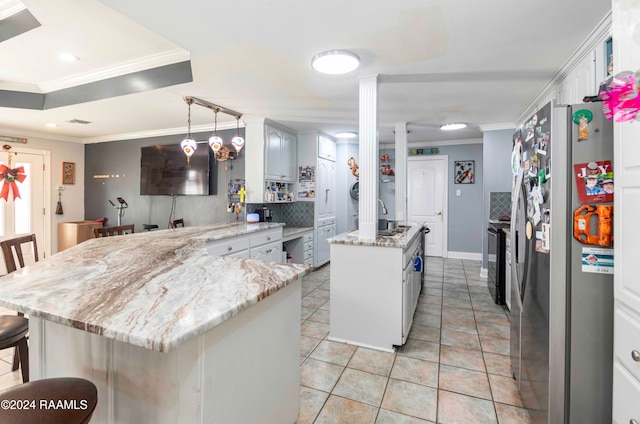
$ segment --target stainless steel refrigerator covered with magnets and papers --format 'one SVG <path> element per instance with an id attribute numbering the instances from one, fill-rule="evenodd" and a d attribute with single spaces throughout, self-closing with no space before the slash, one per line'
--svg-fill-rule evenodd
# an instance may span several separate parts
<path id="1" fill-rule="evenodd" d="M 611 422 L 613 126 L 602 104 L 542 107 L 514 134 L 511 166 L 511 368 L 523 405 L 536 423 Z"/>

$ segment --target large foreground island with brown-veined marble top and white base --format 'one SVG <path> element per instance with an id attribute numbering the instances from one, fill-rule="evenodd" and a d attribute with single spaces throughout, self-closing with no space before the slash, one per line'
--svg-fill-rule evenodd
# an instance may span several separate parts
<path id="1" fill-rule="evenodd" d="M 293 423 L 309 270 L 206 248 L 279 225 L 92 239 L 0 278 L 29 315 L 31 379 L 91 380 L 92 423 Z"/>

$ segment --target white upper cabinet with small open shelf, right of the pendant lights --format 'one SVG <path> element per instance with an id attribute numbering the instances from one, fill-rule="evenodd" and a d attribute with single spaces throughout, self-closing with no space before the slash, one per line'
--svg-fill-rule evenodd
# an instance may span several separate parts
<path id="1" fill-rule="evenodd" d="M 245 125 L 247 203 L 295 200 L 296 132 L 264 118 L 248 119 Z"/>

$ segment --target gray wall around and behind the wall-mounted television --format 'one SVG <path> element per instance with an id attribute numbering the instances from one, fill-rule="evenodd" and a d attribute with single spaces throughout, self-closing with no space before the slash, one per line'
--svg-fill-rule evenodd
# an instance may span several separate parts
<path id="1" fill-rule="evenodd" d="M 243 134 L 244 130 L 240 132 Z M 219 131 L 219 134 L 228 141 L 235 135 L 235 130 Z M 207 140 L 210 135 L 193 134 L 198 141 Z M 91 171 L 85 174 L 85 218 L 107 217 L 107 225 L 116 225 L 117 211 L 108 201 L 115 203 L 116 197 L 122 197 L 129 204 L 122 218 L 123 224 L 135 224 L 136 231 L 142 231 L 142 224 L 157 224 L 159 228 L 167 228 L 172 198 L 140 195 L 140 148 L 156 144 L 179 144 L 182 139 L 184 134 L 87 144 L 85 166 Z M 209 146 L 199 144 L 198 148 L 208 149 Z M 244 151 L 236 160 L 218 162 L 215 167 L 218 173 L 217 194 L 178 196 L 175 217 L 184 218 L 188 226 L 234 221 L 235 214 L 227 213 L 227 183 L 232 178 L 244 178 L 244 162 Z M 94 175 L 105 174 L 119 177 L 94 178 Z"/>

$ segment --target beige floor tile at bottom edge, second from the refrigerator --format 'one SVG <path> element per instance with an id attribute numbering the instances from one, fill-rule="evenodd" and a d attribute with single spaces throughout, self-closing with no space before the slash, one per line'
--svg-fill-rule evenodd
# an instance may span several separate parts
<path id="1" fill-rule="evenodd" d="M 438 422 L 446 424 L 496 424 L 493 402 L 451 393 L 438 392 Z"/>

